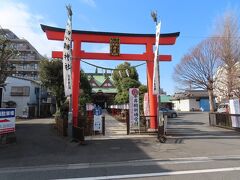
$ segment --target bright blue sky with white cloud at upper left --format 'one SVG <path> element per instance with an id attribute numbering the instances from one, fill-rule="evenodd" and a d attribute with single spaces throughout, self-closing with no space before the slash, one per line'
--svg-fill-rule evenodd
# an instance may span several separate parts
<path id="1" fill-rule="evenodd" d="M 150 13 L 158 12 L 162 21 L 161 33 L 180 32 L 174 46 L 160 47 L 160 54 L 172 54 L 172 62 L 160 64 L 161 87 L 173 94 L 174 66 L 181 57 L 201 40 L 214 32 L 214 24 L 226 10 L 239 12 L 239 0 L 0 0 L 0 25 L 9 28 L 21 38 L 29 40 L 43 55 L 61 50 L 62 43 L 50 42 L 40 24 L 65 28 L 65 5 L 73 9 L 73 29 L 126 33 L 155 33 Z M 107 46 L 84 46 L 86 51 L 105 52 Z M 121 52 L 142 52 L 142 48 L 125 48 Z M 121 61 L 89 61 L 104 67 L 116 67 Z M 130 62 L 132 65 L 142 63 Z M 85 72 L 93 67 L 82 63 Z M 146 84 L 146 66 L 137 68 L 140 81 Z"/>

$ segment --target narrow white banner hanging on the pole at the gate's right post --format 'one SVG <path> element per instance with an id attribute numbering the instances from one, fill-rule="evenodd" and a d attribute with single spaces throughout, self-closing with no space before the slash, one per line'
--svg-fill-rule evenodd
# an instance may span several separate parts
<path id="1" fill-rule="evenodd" d="M 154 52 L 154 68 L 153 68 L 153 94 L 157 95 L 160 93 L 159 89 L 159 67 L 158 67 L 158 47 L 159 47 L 159 37 L 160 37 L 161 22 L 156 26 L 156 42 L 155 42 L 155 52 Z"/>

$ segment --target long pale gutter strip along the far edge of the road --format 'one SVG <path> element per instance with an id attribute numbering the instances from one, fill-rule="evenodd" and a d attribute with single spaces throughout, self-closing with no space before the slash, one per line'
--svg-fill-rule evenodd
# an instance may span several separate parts
<path id="1" fill-rule="evenodd" d="M 76 170 L 76 169 L 86 169 L 86 168 L 133 167 L 133 166 L 136 167 L 136 166 L 166 165 L 166 164 L 206 163 L 206 162 L 213 162 L 216 160 L 240 160 L 240 155 L 222 155 L 222 156 L 211 156 L 211 157 L 185 157 L 185 158 L 168 158 L 168 159 L 140 159 L 140 160 L 130 160 L 130 161 L 121 161 L 121 162 L 7 167 L 7 168 L 0 168 L 0 174 L 53 171 L 53 170 Z"/>

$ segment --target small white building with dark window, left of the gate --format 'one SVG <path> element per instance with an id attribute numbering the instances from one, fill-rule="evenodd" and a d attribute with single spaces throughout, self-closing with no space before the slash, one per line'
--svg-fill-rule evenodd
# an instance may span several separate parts
<path id="1" fill-rule="evenodd" d="M 3 88 L 2 107 L 16 107 L 16 116 L 35 117 L 40 108 L 38 82 L 20 77 L 8 77 Z"/>

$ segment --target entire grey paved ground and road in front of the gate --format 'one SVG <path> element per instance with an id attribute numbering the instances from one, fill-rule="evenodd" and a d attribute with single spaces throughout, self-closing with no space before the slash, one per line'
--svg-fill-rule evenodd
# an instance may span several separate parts
<path id="1" fill-rule="evenodd" d="M 169 119 L 168 140 L 102 139 L 79 146 L 48 119 L 19 122 L 0 146 L 0 179 L 239 179 L 240 134 L 208 126 L 206 113 Z"/>

